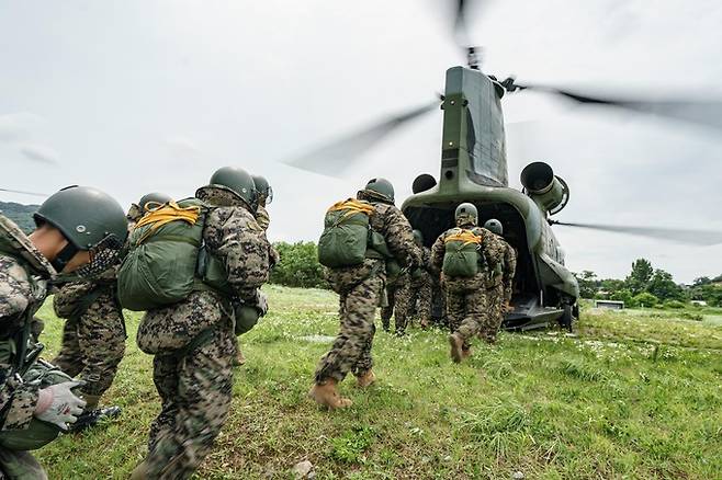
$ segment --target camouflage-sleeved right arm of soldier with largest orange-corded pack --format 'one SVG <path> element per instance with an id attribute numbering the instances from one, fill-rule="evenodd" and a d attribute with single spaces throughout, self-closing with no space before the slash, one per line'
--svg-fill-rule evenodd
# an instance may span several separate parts
<path id="1" fill-rule="evenodd" d="M 252 215 L 239 207 L 216 208 L 206 219 L 204 237 L 236 296 L 256 301 L 257 289 L 268 282 L 270 245 Z"/>

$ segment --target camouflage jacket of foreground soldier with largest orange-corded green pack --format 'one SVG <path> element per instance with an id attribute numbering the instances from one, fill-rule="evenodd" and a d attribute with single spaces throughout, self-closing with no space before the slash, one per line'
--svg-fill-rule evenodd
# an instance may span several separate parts
<path id="1" fill-rule="evenodd" d="M 215 205 L 203 229 L 208 253 L 225 266 L 233 296 L 257 305 L 258 289 L 269 278 L 266 233 L 228 192 L 208 186 L 200 188 L 196 197 Z M 146 353 L 183 346 L 202 330 L 229 319 L 233 313 L 219 300 L 215 293 L 194 292 L 183 301 L 147 311 L 138 329 L 138 345 Z"/>

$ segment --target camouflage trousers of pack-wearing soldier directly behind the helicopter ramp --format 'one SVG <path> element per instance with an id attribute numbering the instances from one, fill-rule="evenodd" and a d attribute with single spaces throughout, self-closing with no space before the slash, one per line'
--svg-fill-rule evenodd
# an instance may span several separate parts
<path id="1" fill-rule="evenodd" d="M 471 278 L 445 278 L 443 288 L 449 328 L 469 348 L 469 340 L 488 321 L 485 279 L 481 274 Z"/>

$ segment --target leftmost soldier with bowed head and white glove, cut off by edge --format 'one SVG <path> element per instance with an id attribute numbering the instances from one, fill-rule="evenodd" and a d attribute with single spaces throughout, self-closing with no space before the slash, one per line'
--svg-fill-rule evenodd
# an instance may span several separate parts
<path id="1" fill-rule="evenodd" d="M 0 216 L 0 473 L 45 479 L 27 452 L 52 442 L 86 402 L 78 381 L 43 361 L 31 320 L 57 273 L 91 277 L 116 259 L 127 236 L 121 206 L 106 194 L 70 186 L 47 198 L 29 236 Z M 2 477 L 2 475 L 0 475 Z"/>

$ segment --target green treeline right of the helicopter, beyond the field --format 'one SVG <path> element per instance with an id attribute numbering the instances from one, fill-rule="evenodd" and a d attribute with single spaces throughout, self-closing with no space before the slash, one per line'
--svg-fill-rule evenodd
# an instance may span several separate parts
<path id="1" fill-rule="evenodd" d="M 628 307 L 665 305 L 681 308 L 691 300 L 722 307 L 722 275 L 714 278 L 700 277 L 692 285 L 681 285 L 675 283 L 669 272 L 654 268 L 646 259 L 634 261 L 624 279 L 600 279 L 588 270 L 575 275 L 582 298 L 619 300 Z"/>

